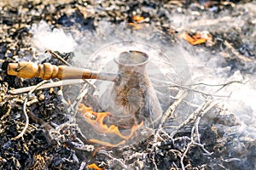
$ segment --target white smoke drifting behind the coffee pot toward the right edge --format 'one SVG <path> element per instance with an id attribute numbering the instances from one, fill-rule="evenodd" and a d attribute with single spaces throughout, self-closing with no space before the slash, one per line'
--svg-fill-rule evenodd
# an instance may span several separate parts
<path id="1" fill-rule="evenodd" d="M 256 76 L 253 73 L 233 71 L 226 65 L 223 56 L 212 54 L 206 48 L 192 48 L 187 42 L 173 44 L 160 31 L 145 27 L 134 31 L 121 23 L 113 26 L 106 21 L 99 22 L 95 32 L 69 31 L 51 29 L 45 22 L 32 27 L 33 44 L 38 50 L 46 48 L 60 52 L 74 51 L 75 64 L 96 71 L 117 72 L 117 66 L 112 62 L 113 57 L 127 49 L 141 50 L 152 57 L 147 66 L 148 75 L 154 83 L 156 94 L 163 111 L 172 104 L 171 97 L 177 94 L 167 86 L 203 83 L 196 86 L 196 90 L 205 94 L 212 94 L 220 99 L 219 107 L 225 114 L 235 117 L 236 126 L 216 125 L 223 128 L 225 135 L 249 136 L 256 139 Z M 130 45 L 123 41 L 132 41 Z M 247 68 L 255 67 L 255 62 L 245 63 Z M 159 71 L 159 72 L 158 72 Z M 232 83 L 229 83 L 232 82 Z M 101 86 L 102 83 L 102 86 Z M 96 95 L 108 90 L 110 82 L 99 83 L 100 91 Z M 221 85 L 225 84 L 226 85 Z M 101 92 L 102 90 L 102 92 Z M 187 101 L 193 105 L 201 105 L 205 98 L 192 92 Z M 105 103 L 108 101 L 104 101 Z M 104 103 L 102 102 L 102 103 Z M 177 120 L 182 122 L 191 113 L 188 104 L 177 108 Z M 240 139 L 238 141 L 242 143 Z M 235 150 L 235 149 L 234 149 Z"/>

